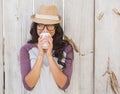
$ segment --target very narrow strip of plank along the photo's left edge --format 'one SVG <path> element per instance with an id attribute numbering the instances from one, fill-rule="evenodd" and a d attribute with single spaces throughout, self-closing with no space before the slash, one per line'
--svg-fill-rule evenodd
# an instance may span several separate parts
<path id="1" fill-rule="evenodd" d="M 3 94 L 3 5 L 0 0 L 0 94 Z"/>

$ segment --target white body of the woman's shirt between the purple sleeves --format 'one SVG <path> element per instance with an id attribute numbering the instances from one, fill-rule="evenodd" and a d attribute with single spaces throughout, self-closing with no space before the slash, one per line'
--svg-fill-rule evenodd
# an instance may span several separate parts
<path id="1" fill-rule="evenodd" d="M 34 47 L 30 49 L 29 55 L 31 60 L 31 68 L 33 68 L 38 57 L 38 48 Z M 57 61 L 57 58 L 54 59 Z M 58 67 L 61 67 L 58 63 L 57 65 Z M 43 66 L 40 72 L 40 79 L 34 89 L 27 91 L 27 94 L 65 94 L 65 92 L 55 83 L 46 55 L 43 57 Z"/>

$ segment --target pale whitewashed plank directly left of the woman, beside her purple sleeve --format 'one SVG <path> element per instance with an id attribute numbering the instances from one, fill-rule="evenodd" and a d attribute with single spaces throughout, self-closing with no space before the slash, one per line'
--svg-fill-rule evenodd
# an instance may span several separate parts
<path id="1" fill-rule="evenodd" d="M 4 0 L 5 94 L 26 94 L 20 75 L 19 50 L 29 38 L 31 14 L 32 1 Z"/>

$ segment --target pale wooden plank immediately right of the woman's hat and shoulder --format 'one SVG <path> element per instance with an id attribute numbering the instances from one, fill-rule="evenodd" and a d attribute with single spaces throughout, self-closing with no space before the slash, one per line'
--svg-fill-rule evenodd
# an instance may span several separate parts
<path id="1" fill-rule="evenodd" d="M 79 47 L 67 94 L 93 94 L 94 0 L 64 0 L 65 33 Z M 82 56 L 82 54 L 84 56 Z"/>

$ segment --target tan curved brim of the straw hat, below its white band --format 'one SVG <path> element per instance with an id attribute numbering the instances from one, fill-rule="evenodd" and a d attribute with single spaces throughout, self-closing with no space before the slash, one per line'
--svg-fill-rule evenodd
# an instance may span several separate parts
<path id="1" fill-rule="evenodd" d="M 36 23 L 42 23 L 42 24 L 57 24 L 60 23 L 62 20 L 62 17 L 59 16 L 59 20 L 49 20 L 49 19 L 40 19 L 36 18 L 35 15 L 31 16 L 31 20 Z"/>

